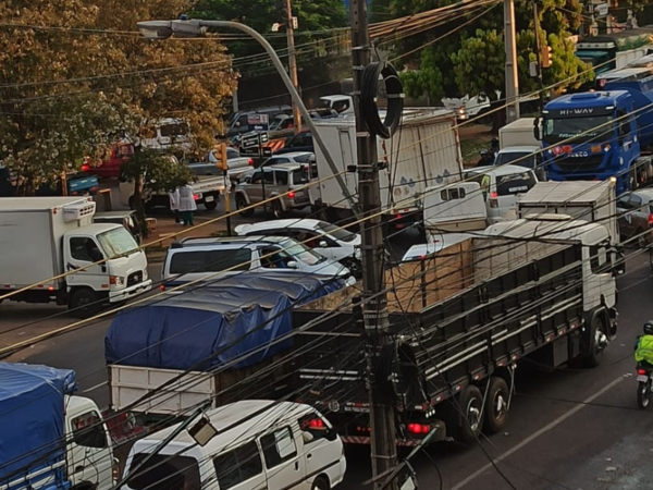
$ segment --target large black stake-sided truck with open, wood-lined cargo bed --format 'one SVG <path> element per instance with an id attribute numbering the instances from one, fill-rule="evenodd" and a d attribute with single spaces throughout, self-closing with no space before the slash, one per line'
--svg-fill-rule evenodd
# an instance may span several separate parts
<path id="1" fill-rule="evenodd" d="M 607 229 L 558 216 L 525 228 L 528 241 L 473 237 L 385 272 L 394 340 L 373 375 L 394 404 L 398 444 L 504 430 L 522 358 L 546 367 L 601 362 L 617 331 Z M 354 355 L 366 352 L 359 302 L 352 287 L 294 308 L 296 326 L 333 314 L 297 332 L 293 371 L 296 387 L 324 383 L 304 403 L 328 415 L 345 442 L 369 444 L 367 362 Z M 324 342 L 308 348 L 320 333 Z"/>

